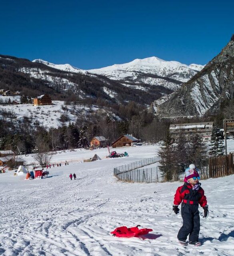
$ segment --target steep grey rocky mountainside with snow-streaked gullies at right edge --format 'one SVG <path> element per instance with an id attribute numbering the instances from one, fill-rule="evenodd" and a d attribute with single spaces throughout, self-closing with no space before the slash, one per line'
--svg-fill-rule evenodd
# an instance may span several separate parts
<path id="1" fill-rule="evenodd" d="M 153 106 L 160 116 L 192 116 L 218 112 L 225 101 L 233 98 L 234 36 L 198 74 Z"/>

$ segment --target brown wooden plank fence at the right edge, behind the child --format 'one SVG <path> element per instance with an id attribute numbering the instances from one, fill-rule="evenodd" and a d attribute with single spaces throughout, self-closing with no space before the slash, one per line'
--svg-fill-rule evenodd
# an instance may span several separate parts
<path id="1" fill-rule="evenodd" d="M 234 153 L 209 159 L 209 176 L 218 178 L 234 174 Z"/>

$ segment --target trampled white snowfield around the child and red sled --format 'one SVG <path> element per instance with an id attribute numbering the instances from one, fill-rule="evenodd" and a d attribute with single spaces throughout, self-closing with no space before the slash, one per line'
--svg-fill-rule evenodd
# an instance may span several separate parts
<path id="1" fill-rule="evenodd" d="M 113 167 L 154 156 L 156 147 L 123 148 L 130 157 L 71 163 L 50 169 L 50 178 L 24 180 L 0 174 L 0 254 L 3 256 L 234 255 L 234 176 L 202 182 L 210 216 L 201 218 L 200 247 L 180 246 L 181 216 L 172 212 L 181 182 L 118 182 Z M 120 151 L 118 149 L 117 151 Z M 87 154 L 91 154 L 89 150 Z M 92 152 L 104 156 L 103 150 Z M 66 158 L 74 152 L 67 152 Z M 79 155 L 80 152 L 77 152 Z M 81 153 L 86 154 L 86 153 Z M 60 154 L 53 161 L 60 161 Z M 76 172 L 78 180 L 68 175 Z M 201 214 L 202 211 L 200 210 Z M 145 238 L 116 238 L 118 226 L 142 225 Z"/>

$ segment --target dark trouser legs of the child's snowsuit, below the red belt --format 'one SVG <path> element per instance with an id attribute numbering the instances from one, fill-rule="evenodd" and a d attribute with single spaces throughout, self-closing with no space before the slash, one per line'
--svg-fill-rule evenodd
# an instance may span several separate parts
<path id="1" fill-rule="evenodd" d="M 198 241 L 200 232 L 200 216 L 198 211 L 198 204 L 181 205 L 181 215 L 183 218 L 183 226 L 180 228 L 177 238 L 179 240 L 187 239 L 189 235 L 189 242 Z"/>

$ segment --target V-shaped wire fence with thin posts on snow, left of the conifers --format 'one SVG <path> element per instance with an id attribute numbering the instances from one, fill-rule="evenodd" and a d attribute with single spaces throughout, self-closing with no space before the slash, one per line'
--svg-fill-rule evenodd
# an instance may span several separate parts
<path id="1" fill-rule="evenodd" d="M 158 167 L 143 168 L 149 164 L 154 164 L 159 161 L 159 157 L 145 158 L 140 161 L 133 162 L 114 168 L 114 176 L 119 180 L 128 182 L 158 182 L 161 181 L 161 173 L 158 172 Z"/>

